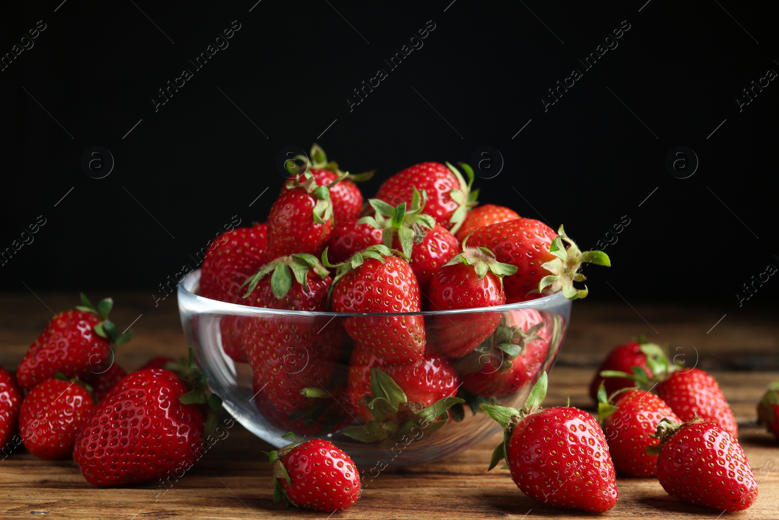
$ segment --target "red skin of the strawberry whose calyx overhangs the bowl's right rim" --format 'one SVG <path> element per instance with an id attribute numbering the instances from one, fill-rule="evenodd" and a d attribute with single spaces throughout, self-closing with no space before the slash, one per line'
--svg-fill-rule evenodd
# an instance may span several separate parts
<path id="1" fill-rule="evenodd" d="M 556 236 L 557 233 L 541 221 L 517 218 L 477 228 L 467 245 L 487 247 L 499 262 L 516 266 L 516 273 L 503 278 L 506 303 L 524 302 L 541 296 L 531 291 L 538 289 L 541 278 L 550 274 L 541 265 L 555 259 L 549 246 Z"/>

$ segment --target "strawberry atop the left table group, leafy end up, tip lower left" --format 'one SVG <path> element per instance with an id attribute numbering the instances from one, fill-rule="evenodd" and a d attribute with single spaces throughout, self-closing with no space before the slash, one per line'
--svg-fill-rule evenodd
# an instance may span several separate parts
<path id="1" fill-rule="evenodd" d="M 122 345 L 132 337 L 132 330 L 118 334 L 108 320 L 113 300 L 101 300 L 96 309 L 82 293 L 81 302 L 51 320 L 19 362 L 16 379 L 24 390 L 32 390 L 58 371 L 82 379 L 100 373 L 113 359 L 111 345 Z"/>

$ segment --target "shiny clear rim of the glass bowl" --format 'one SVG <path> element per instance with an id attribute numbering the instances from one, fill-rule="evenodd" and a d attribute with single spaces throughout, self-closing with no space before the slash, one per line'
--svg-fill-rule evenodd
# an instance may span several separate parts
<path id="1" fill-rule="evenodd" d="M 178 300 L 179 308 L 181 309 L 182 298 L 194 299 L 201 306 L 208 306 L 210 312 L 220 313 L 226 315 L 240 315 L 240 316 L 257 316 L 262 317 L 267 314 L 278 314 L 284 316 L 298 316 L 298 317 L 386 317 L 390 316 L 423 316 L 423 317 L 437 317 L 437 316 L 456 316 L 458 314 L 472 314 L 481 313 L 489 310 L 490 312 L 506 312 L 509 310 L 527 310 L 527 309 L 548 309 L 564 305 L 571 305 L 572 300 L 566 299 L 562 295 L 562 291 L 554 292 L 551 295 L 542 296 L 537 299 L 530 299 L 525 302 L 506 303 L 504 305 L 496 305 L 492 307 L 474 307 L 471 309 L 449 309 L 449 310 L 421 310 L 415 313 L 333 313 L 331 311 L 312 311 L 312 310 L 286 310 L 286 309 L 270 309 L 268 307 L 254 307 L 249 305 L 241 305 L 239 303 L 221 302 L 216 299 L 206 298 L 192 292 L 190 289 L 200 281 L 200 269 L 196 269 L 178 282 Z"/>

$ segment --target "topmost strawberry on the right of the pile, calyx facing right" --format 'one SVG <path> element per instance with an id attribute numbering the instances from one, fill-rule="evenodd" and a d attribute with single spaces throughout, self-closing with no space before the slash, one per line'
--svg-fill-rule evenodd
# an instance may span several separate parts
<path id="1" fill-rule="evenodd" d="M 411 204 L 414 188 L 425 191 L 430 200 L 428 214 L 444 228 L 455 233 L 460 228 L 468 210 L 476 204 L 478 191 L 471 191 L 474 171 L 467 164 L 460 163 L 468 181 L 451 164 L 423 162 L 406 168 L 384 181 L 376 193 L 376 198 L 397 206 L 400 203 Z"/>

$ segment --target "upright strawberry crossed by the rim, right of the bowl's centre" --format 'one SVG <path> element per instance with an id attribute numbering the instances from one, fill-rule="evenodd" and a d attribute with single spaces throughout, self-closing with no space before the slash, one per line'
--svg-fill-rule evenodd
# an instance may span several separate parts
<path id="1" fill-rule="evenodd" d="M 489 249 L 467 247 L 433 274 L 428 288 L 432 310 L 472 309 L 506 303 L 502 278 L 516 267 L 501 264 Z M 428 324 L 435 345 L 447 356 L 466 356 L 489 338 L 500 323 L 500 313 L 470 313 L 436 317 Z M 429 319 L 428 319 L 429 320 Z"/>

